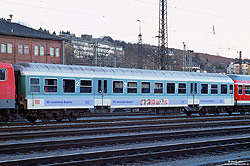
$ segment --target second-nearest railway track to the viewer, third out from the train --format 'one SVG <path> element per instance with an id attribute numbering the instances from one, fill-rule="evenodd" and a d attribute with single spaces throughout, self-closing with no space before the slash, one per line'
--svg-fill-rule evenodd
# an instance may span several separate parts
<path id="1" fill-rule="evenodd" d="M 139 143 L 146 141 L 163 141 L 173 139 L 190 139 L 197 137 L 209 137 L 218 135 L 236 135 L 236 134 L 249 134 L 250 127 L 242 128 L 227 128 L 227 129 L 206 129 L 206 130 L 191 130 L 191 131 L 173 131 L 149 134 L 134 134 L 123 136 L 105 136 L 93 137 L 85 139 L 73 139 L 63 141 L 51 142 L 36 142 L 36 143 L 22 143 L 22 144 L 8 144 L 0 145 L 0 154 L 11 153 L 28 153 L 32 151 L 45 151 L 56 149 L 69 149 L 69 148 L 86 148 L 93 146 L 104 146 L 113 144 L 124 143 Z"/>

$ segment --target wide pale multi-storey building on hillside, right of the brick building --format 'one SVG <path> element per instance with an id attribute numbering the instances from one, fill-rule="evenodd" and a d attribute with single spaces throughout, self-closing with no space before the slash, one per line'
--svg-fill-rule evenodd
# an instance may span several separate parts
<path id="1" fill-rule="evenodd" d="M 116 67 L 116 63 L 125 55 L 123 48 L 115 45 L 111 37 L 93 38 L 91 35 L 76 37 L 74 34 L 63 32 L 60 33 L 60 37 L 68 40 L 66 46 L 68 64 Z"/>

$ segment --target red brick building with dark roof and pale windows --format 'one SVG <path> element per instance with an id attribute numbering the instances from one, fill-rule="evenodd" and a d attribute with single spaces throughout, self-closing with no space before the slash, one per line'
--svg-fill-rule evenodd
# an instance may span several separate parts
<path id="1" fill-rule="evenodd" d="M 63 39 L 0 19 L 0 62 L 62 63 Z"/>

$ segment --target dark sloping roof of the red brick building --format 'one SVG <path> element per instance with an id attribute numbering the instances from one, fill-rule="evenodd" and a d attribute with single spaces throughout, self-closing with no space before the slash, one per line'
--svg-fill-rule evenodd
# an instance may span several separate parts
<path id="1" fill-rule="evenodd" d="M 0 35 L 39 38 L 46 40 L 64 40 L 59 36 L 54 36 L 45 32 L 41 32 L 21 24 L 11 23 L 5 21 L 4 19 L 0 19 Z"/>

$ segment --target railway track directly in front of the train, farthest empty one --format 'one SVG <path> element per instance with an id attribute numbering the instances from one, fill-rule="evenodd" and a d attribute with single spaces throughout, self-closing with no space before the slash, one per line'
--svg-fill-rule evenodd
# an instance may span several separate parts
<path id="1" fill-rule="evenodd" d="M 172 123 L 190 123 L 190 122 L 209 122 L 209 121 L 234 121 L 249 120 L 249 116 L 225 116 L 225 117 L 199 117 L 199 118 L 169 118 L 169 117 L 146 117 L 146 118 L 116 118 L 116 119 L 90 119 L 78 121 L 77 123 L 50 123 L 50 124 L 23 124 L 18 126 L 8 126 L 7 124 L 0 127 L 1 132 L 17 131 L 37 131 L 37 130 L 55 130 L 55 129 L 77 129 L 77 128 L 94 128 L 94 127 L 112 127 L 112 126 L 131 126 L 152 125 L 152 124 L 172 124 Z M 1 133 L 0 132 L 0 133 Z"/>

